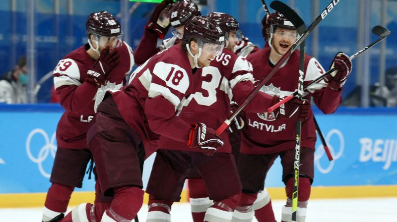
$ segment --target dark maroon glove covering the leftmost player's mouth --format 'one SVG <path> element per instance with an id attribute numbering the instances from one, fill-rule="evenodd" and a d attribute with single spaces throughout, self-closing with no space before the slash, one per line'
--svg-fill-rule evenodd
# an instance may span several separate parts
<path id="1" fill-rule="evenodd" d="M 119 64 L 119 55 L 117 50 L 109 52 L 109 48 L 102 50 L 99 58 L 94 62 L 92 67 L 87 71 L 87 81 L 106 85 L 107 75 L 114 67 Z"/>

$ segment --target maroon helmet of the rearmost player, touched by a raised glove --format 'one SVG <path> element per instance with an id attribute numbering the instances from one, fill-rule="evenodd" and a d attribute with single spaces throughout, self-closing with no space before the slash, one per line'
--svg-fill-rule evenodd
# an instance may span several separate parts
<path id="1" fill-rule="evenodd" d="M 173 3 L 169 13 L 170 22 L 174 28 L 185 25 L 189 19 L 196 15 L 201 15 L 199 7 L 191 0 L 181 0 Z"/>

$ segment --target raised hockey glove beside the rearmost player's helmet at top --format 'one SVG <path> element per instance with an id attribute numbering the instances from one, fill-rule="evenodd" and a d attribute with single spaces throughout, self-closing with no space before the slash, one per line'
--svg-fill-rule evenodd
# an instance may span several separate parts
<path id="1" fill-rule="evenodd" d="M 172 3 L 173 0 L 163 0 L 159 3 L 154 8 L 153 14 L 145 25 L 146 30 L 151 30 L 157 33 L 160 39 L 164 39 L 165 34 L 167 34 L 168 29 L 170 28 L 168 10 Z"/>

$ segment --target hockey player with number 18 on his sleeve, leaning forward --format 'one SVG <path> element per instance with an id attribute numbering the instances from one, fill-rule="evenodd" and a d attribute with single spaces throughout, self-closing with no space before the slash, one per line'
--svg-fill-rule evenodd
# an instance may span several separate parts
<path id="1" fill-rule="evenodd" d="M 216 22 L 197 16 L 186 24 L 184 45 L 152 56 L 132 73 L 126 88 L 105 97 L 87 141 L 101 191 L 113 200 L 107 208 L 81 204 L 63 222 L 131 221 L 143 202 L 143 161 L 157 150 L 160 136 L 205 155 L 212 155 L 223 145 L 204 123 L 191 124 L 178 116 L 198 84 L 197 68 L 208 66 L 222 52 L 223 40 Z"/>

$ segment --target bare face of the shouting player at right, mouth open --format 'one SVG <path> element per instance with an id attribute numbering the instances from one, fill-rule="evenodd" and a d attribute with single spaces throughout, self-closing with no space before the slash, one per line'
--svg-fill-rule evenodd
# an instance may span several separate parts
<path id="1" fill-rule="evenodd" d="M 277 27 L 271 40 L 272 50 L 283 56 L 292 47 L 296 37 L 296 30 Z"/>

